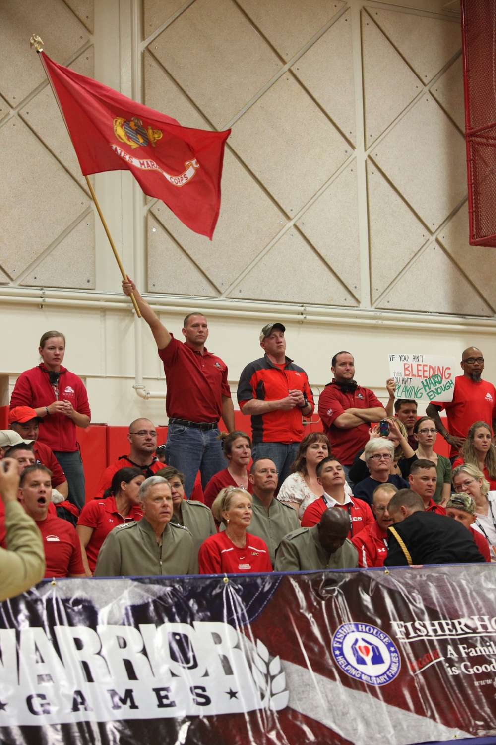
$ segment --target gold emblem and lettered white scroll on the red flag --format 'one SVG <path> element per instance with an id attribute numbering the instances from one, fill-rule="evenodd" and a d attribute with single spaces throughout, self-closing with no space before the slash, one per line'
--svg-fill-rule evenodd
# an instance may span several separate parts
<path id="1" fill-rule="evenodd" d="M 137 116 L 132 116 L 130 119 L 126 119 L 123 116 L 117 116 L 114 119 L 114 133 L 120 142 L 123 142 L 132 149 L 139 147 L 146 148 L 147 145 L 152 145 L 152 147 L 155 148 L 156 142 L 162 138 L 161 130 L 155 130 L 149 124 L 144 124 Z M 187 184 L 200 167 L 196 158 L 187 160 L 184 163 L 184 168 L 186 170 L 183 171 L 182 174 L 174 176 L 173 174 L 168 174 L 167 171 L 164 171 L 155 160 L 149 158 L 135 158 L 113 142 L 110 143 L 110 147 L 120 158 L 126 161 L 126 163 L 129 163 L 129 165 L 134 166 L 134 168 L 140 168 L 141 171 L 157 171 L 173 186 L 184 186 L 184 184 Z"/>

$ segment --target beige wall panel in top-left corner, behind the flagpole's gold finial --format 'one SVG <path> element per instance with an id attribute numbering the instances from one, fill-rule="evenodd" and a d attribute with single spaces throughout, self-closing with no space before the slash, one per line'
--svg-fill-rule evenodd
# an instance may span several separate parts
<path id="1" fill-rule="evenodd" d="M 58 0 L 2 0 L 0 4 L 0 94 L 18 106 L 40 83 L 45 70 L 29 39 L 36 34 L 47 42 L 45 51 L 62 64 L 88 41 L 88 30 Z"/>

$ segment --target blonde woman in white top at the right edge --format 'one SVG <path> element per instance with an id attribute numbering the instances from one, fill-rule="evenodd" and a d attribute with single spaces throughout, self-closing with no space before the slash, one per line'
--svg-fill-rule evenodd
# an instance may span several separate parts
<path id="1" fill-rule="evenodd" d="M 491 561 L 496 562 L 496 492 L 489 491 L 489 483 L 483 472 L 463 463 L 451 472 L 451 483 L 455 492 L 466 492 L 475 500 L 475 522 L 489 544 Z"/>

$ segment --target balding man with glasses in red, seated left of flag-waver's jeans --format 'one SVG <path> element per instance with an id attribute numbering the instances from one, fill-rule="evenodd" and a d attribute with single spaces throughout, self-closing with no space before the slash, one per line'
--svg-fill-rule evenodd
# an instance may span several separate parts
<path id="1" fill-rule="evenodd" d="M 112 466 L 105 469 L 95 498 L 103 497 L 105 489 L 109 489 L 112 484 L 112 476 L 120 468 L 139 468 L 145 478 L 155 475 L 159 469 L 164 468 L 164 463 L 155 457 L 157 430 L 149 419 L 135 419 L 131 422 L 127 439 L 131 445 L 129 455 L 120 455 Z"/>

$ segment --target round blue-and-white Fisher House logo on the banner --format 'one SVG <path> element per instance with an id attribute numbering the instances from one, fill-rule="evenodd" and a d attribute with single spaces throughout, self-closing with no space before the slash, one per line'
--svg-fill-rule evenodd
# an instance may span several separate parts
<path id="1" fill-rule="evenodd" d="M 332 654 L 347 675 L 370 685 L 390 683 L 399 673 L 393 640 L 370 624 L 342 624 L 332 637 Z"/>

